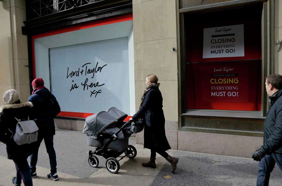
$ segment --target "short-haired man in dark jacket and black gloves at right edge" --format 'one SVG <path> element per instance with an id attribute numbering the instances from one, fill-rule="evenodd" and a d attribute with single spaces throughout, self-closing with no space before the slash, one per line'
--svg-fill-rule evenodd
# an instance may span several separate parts
<path id="1" fill-rule="evenodd" d="M 282 76 L 272 74 L 265 78 L 270 109 L 264 122 L 263 145 L 253 153 L 258 164 L 257 185 L 268 185 L 270 173 L 277 164 L 282 171 Z"/>

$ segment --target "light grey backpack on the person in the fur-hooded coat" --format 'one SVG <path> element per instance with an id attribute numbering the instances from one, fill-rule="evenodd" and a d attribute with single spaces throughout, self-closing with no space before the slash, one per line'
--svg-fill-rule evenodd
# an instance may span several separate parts
<path id="1" fill-rule="evenodd" d="M 29 120 L 29 117 L 26 121 L 14 118 L 18 121 L 13 137 L 16 144 L 23 145 L 37 141 L 38 127 L 36 123 L 33 120 Z"/>

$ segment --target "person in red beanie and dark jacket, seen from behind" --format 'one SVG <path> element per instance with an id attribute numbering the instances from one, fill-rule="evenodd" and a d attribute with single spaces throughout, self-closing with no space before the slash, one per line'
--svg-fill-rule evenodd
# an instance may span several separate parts
<path id="1" fill-rule="evenodd" d="M 37 177 L 36 163 L 38 158 L 38 149 L 40 143 L 44 139 L 47 153 L 49 155 L 51 172 L 47 175 L 48 178 L 57 181 L 57 162 L 56 153 L 53 146 L 53 139 L 55 135 L 54 117 L 60 113 L 60 106 L 53 94 L 44 87 L 42 78 L 36 78 L 32 81 L 32 95 L 29 96 L 28 101 L 34 105 L 32 110 L 32 119 L 36 121 L 39 128 L 38 145 L 36 151 L 30 156 L 30 172 L 32 178 Z"/>

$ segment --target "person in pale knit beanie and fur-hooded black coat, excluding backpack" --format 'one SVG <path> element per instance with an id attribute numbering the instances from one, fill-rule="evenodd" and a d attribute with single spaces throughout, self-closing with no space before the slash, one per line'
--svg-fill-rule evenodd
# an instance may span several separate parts
<path id="1" fill-rule="evenodd" d="M 13 160 L 16 165 L 16 177 L 13 177 L 12 182 L 21 185 L 23 180 L 26 186 L 31 186 L 32 178 L 27 157 L 34 151 L 35 143 L 17 145 L 13 140 L 13 134 L 18 122 L 15 117 L 21 121 L 27 120 L 33 105 L 31 102 L 21 103 L 15 89 L 7 90 L 3 100 L 7 105 L 0 109 L 0 141 L 6 144 L 8 159 Z"/>

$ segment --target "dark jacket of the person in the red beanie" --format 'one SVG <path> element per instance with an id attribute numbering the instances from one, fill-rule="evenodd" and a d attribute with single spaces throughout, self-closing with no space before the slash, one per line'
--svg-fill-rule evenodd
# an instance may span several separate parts
<path id="1" fill-rule="evenodd" d="M 61 109 L 55 96 L 47 89 L 36 90 L 29 96 L 28 101 L 32 102 L 31 119 L 34 119 L 40 135 L 55 135 L 54 117 Z"/>

